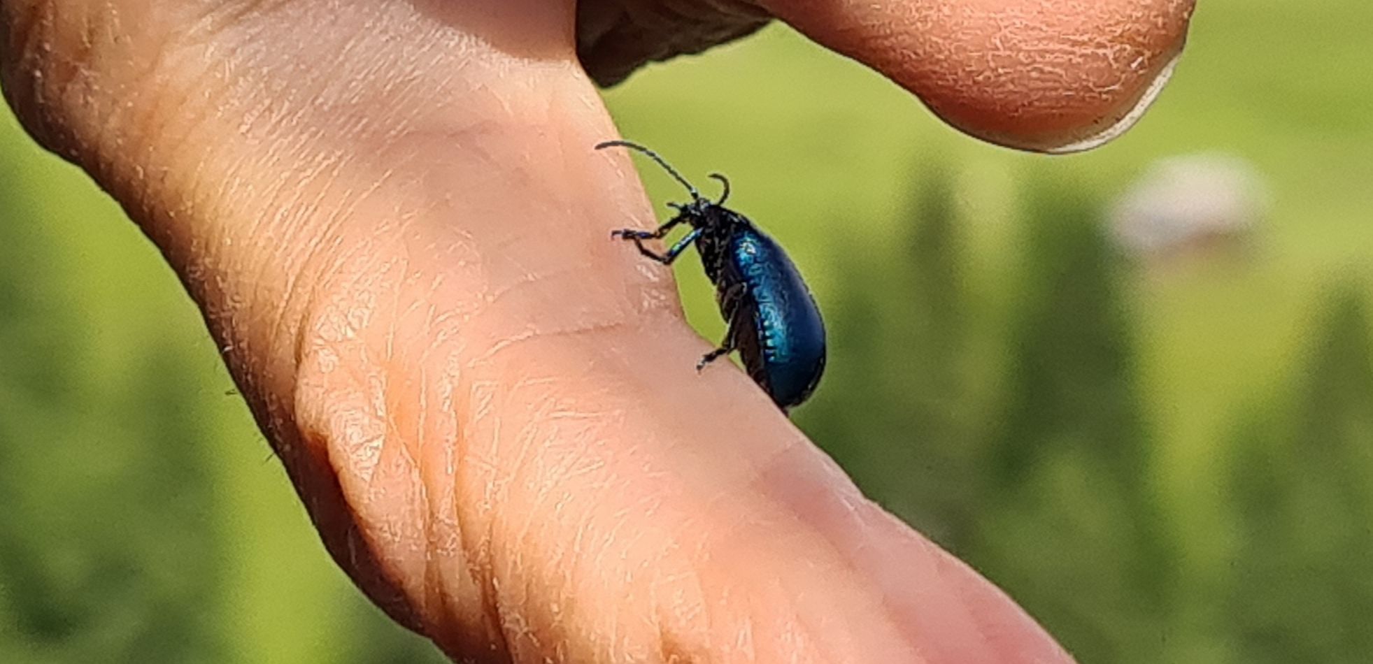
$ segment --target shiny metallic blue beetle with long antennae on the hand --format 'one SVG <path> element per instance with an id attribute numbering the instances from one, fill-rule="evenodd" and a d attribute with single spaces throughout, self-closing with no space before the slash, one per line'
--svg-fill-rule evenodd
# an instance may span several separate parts
<path id="1" fill-rule="evenodd" d="M 737 350 L 748 376 L 784 412 L 806 401 L 825 372 L 825 325 L 820 307 L 781 247 L 747 217 L 724 206 L 729 180 L 719 173 L 710 174 L 725 187 L 719 200 L 713 202 L 702 198 L 658 152 L 630 141 L 605 141 L 596 150 L 608 147 L 648 155 L 691 193 L 691 203 L 669 203 L 677 215 L 656 230 L 626 228 L 612 232 L 611 237 L 632 240 L 640 254 L 663 265 L 671 265 L 686 247 L 696 244 L 706 276 L 715 284 L 719 313 L 729 325 L 725 340 L 700 358 L 696 370 Z M 691 232 L 665 254 L 644 247 L 644 240 L 662 239 L 678 224 L 689 225 Z"/>

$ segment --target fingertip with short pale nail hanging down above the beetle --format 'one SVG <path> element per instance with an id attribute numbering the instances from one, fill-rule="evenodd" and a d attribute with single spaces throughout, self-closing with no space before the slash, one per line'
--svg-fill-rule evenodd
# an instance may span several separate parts
<path id="1" fill-rule="evenodd" d="M 1182 52 L 1195 0 L 763 0 L 979 139 L 1048 152 L 1127 130 Z"/>

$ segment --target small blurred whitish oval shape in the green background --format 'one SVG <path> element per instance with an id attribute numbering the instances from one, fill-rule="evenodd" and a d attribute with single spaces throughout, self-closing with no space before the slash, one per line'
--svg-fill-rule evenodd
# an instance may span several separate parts
<path id="1" fill-rule="evenodd" d="M 1160 159 L 1111 207 L 1111 237 L 1124 251 L 1160 257 L 1243 241 L 1269 209 L 1248 161 L 1223 154 Z"/>

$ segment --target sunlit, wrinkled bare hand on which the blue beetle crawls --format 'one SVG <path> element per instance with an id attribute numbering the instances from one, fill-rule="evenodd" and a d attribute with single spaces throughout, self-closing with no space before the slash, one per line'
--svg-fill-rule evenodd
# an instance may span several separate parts
<path id="1" fill-rule="evenodd" d="M 640 38 L 741 4 L 662 1 L 600 4 L 678 16 Z M 1037 150 L 1129 117 L 1192 11 L 759 7 Z M 1070 661 L 743 372 L 696 373 L 711 343 L 670 274 L 608 237 L 655 218 L 629 156 L 590 150 L 618 133 L 574 16 L 0 0 L 0 74 L 34 137 L 163 251 L 339 564 L 456 660 Z M 588 62 L 637 63 L 616 45 Z"/>

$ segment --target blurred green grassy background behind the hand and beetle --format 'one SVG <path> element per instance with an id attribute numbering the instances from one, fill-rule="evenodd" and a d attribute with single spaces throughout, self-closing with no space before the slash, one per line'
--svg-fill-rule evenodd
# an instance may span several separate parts
<path id="1" fill-rule="evenodd" d="M 800 427 L 1083 663 L 1365 663 L 1370 25 L 1205 0 L 1145 119 L 1061 158 L 783 27 L 607 97 L 806 273 L 832 348 Z M 1254 225 L 1122 250 L 1114 202 L 1196 152 L 1256 173 Z M 154 248 L 0 118 L 0 661 L 439 661 L 332 565 L 231 388 Z"/>

